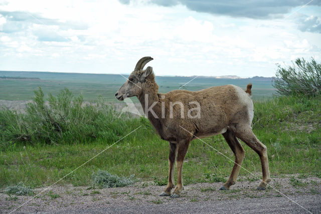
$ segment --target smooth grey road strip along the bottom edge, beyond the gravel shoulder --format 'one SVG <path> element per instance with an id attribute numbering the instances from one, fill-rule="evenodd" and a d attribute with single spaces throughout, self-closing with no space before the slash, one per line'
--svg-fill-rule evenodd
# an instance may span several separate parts
<path id="1" fill-rule="evenodd" d="M 321 210 L 320 195 L 291 199 L 312 213 Z M 309 213 L 285 197 L 242 198 L 238 200 L 183 202 L 171 204 L 120 205 L 101 208 L 65 209 L 54 213 Z M 50 213 L 50 212 L 48 212 Z"/>

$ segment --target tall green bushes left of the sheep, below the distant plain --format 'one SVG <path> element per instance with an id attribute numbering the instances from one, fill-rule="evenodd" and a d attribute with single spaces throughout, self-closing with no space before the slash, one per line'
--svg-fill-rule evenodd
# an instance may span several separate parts
<path id="1" fill-rule="evenodd" d="M 23 144 L 69 144 L 95 139 L 113 142 L 140 125 L 139 119 L 128 119 L 100 99 L 85 104 L 82 95 L 74 97 L 65 88 L 57 96 L 49 94 L 45 103 L 41 88 L 35 90 L 26 113 L 0 109 L 0 148 L 17 142 Z"/>

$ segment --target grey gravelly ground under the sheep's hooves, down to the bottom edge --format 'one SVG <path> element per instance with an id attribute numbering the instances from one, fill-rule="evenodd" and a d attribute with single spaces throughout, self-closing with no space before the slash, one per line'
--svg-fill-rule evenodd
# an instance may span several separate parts
<path id="1" fill-rule="evenodd" d="M 272 178 L 271 185 L 287 195 L 268 188 L 257 191 L 259 180 L 242 178 L 231 190 L 218 190 L 222 183 L 196 183 L 185 186 L 180 198 L 160 197 L 164 186 L 136 183 L 134 186 L 87 189 L 86 186 L 53 186 L 33 196 L 11 197 L 0 193 L 0 212 L 9 213 L 27 202 L 15 212 L 49 213 L 308 213 L 298 204 L 321 213 L 321 178 Z M 36 189 L 36 193 L 44 188 Z"/>

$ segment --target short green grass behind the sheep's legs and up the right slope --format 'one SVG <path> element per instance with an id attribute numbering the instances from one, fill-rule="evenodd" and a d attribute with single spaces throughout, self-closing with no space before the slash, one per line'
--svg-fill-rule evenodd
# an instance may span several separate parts
<path id="1" fill-rule="evenodd" d="M 281 174 L 320 176 L 320 99 L 290 96 L 254 103 L 253 131 L 267 146 L 272 177 Z M 15 115 L 9 111 L 5 113 L 12 116 L 9 117 L 13 118 L 12 122 L 15 121 Z M 109 116 L 105 115 L 104 118 L 112 118 Z M 31 187 L 50 185 L 140 125 L 137 131 L 66 176 L 60 183 L 87 186 L 92 182 L 91 175 L 99 169 L 120 177 L 135 174 L 135 178 L 141 181 L 154 181 L 158 185 L 167 183 L 169 145 L 156 135 L 147 119 L 115 119 L 114 123 L 97 124 L 105 124 L 107 133 L 109 131 L 113 137 L 73 140 L 68 136 L 68 140 L 62 137 L 56 144 L 46 141 L 30 143 L 26 140 L 11 140 L 8 143 L 7 136 L 0 133 L 3 143 L 0 153 L 0 186 L 16 185 L 21 181 Z M 222 135 L 203 140 L 234 159 Z M 246 152 L 242 166 L 251 172 L 261 173 L 259 156 L 245 143 L 241 143 Z M 223 182 L 233 167 L 231 161 L 200 140 L 192 141 L 186 159 L 188 161 L 184 163 L 183 169 L 185 184 Z M 240 175 L 252 177 L 243 169 Z"/>

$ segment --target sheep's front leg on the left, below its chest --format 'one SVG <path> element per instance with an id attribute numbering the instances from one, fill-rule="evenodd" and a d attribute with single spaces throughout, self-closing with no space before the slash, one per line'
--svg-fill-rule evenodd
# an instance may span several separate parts
<path id="1" fill-rule="evenodd" d="M 169 182 L 165 190 L 159 196 L 170 196 L 171 190 L 174 188 L 174 163 L 177 154 L 176 143 L 170 142 L 170 155 L 169 155 Z"/>

